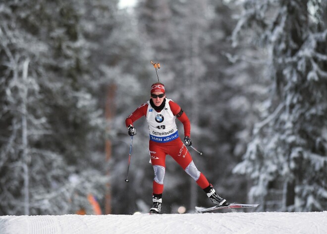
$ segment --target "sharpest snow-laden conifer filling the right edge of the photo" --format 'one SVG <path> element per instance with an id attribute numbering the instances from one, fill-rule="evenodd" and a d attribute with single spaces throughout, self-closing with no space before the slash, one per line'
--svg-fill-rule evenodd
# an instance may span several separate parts
<path id="1" fill-rule="evenodd" d="M 243 161 L 262 210 L 326 210 L 327 3 L 245 0 L 233 42 L 268 53 L 272 86 Z"/>

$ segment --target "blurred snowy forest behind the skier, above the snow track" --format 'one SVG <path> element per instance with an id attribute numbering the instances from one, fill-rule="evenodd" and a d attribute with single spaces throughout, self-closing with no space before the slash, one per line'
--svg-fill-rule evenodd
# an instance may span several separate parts
<path id="1" fill-rule="evenodd" d="M 0 215 L 152 205 L 146 120 L 160 63 L 195 164 L 229 202 L 327 210 L 325 0 L 0 2 Z M 178 121 L 177 121 L 178 122 Z M 180 135 L 182 125 L 178 122 Z M 163 212 L 212 205 L 170 157 Z"/>

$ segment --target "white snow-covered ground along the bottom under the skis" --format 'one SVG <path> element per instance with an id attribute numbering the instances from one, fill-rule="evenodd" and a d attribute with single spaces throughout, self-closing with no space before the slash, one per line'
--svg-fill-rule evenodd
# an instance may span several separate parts
<path id="1" fill-rule="evenodd" d="M 327 211 L 1 216 L 0 234 L 323 234 Z"/>

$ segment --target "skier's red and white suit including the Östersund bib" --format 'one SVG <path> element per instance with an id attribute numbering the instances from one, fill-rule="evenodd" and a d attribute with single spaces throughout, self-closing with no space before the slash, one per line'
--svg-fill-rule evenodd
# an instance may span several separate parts
<path id="1" fill-rule="evenodd" d="M 153 193 L 163 193 L 163 178 L 165 172 L 165 157 L 170 155 L 202 188 L 207 188 L 207 178 L 196 168 L 186 146 L 180 140 L 175 118 L 180 113 L 180 106 L 170 99 L 166 99 L 163 110 L 157 112 L 150 101 L 140 105 L 125 121 L 126 127 L 145 116 L 149 124 L 150 141 L 149 151 L 151 163 L 155 171 Z M 177 117 L 183 123 L 184 135 L 190 137 L 190 121 L 187 115 Z"/>

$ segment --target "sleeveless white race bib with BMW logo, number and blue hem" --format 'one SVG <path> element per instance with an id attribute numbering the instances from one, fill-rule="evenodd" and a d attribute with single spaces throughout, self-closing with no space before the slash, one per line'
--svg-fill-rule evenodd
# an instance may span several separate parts
<path id="1" fill-rule="evenodd" d="M 165 143 L 178 138 L 175 123 L 176 116 L 170 110 L 169 101 L 171 99 L 166 98 L 166 103 L 161 112 L 153 109 L 150 101 L 148 101 L 147 121 L 149 123 L 151 141 Z"/>

